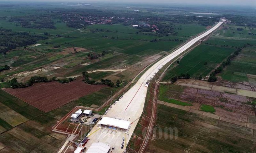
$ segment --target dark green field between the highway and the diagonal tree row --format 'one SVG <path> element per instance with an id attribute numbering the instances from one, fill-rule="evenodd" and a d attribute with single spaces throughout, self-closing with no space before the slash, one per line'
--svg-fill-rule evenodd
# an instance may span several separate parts
<path id="1" fill-rule="evenodd" d="M 175 68 L 169 67 L 163 80 L 170 81 L 172 77 L 181 73 L 189 73 L 191 77 L 205 77 L 234 51 L 232 48 L 200 45 L 186 54 Z"/>

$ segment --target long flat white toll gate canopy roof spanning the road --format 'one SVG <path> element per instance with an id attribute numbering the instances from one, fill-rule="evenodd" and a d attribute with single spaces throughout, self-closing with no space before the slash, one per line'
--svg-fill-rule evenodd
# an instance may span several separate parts
<path id="1" fill-rule="evenodd" d="M 98 124 L 114 126 L 117 128 L 127 130 L 129 128 L 130 123 L 131 123 L 130 121 L 119 120 L 119 119 L 114 119 L 114 118 L 110 118 L 110 117 L 103 117 L 102 120 L 99 121 Z"/>

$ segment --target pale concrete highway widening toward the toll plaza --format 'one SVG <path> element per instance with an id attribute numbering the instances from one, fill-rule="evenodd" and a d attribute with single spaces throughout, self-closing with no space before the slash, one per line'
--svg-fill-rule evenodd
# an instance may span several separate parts
<path id="1" fill-rule="evenodd" d="M 147 87 L 145 84 L 148 79 L 155 75 L 158 72 L 158 69 L 161 68 L 163 65 L 167 64 L 169 61 L 173 60 L 175 57 L 179 56 L 195 43 L 197 43 L 200 39 L 208 36 L 214 30 L 222 26 L 223 22 L 226 20 L 221 19 L 218 23 L 215 24 L 212 28 L 208 29 L 207 31 L 203 32 L 199 36 L 191 39 L 189 42 L 181 46 L 180 48 L 176 49 L 169 55 L 163 57 L 161 60 L 156 62 L 153 66 L 151 66 L 136 82 L 134 86 L 132 86 L 124 95 L 123 98 L 120 98 L 119 101 L 115 105 L 112 105 L 112 108 L 108 111 L 108 113 L 104 116 L 118 118 L 122 120 L 128 120 L 132 122 L 130 128 L 125 130 L 117 129 L 116 131 L 109 130 L 107 127 L 100 127 L 100 125 L 94 126 L 94 128 L 88 134 L 89 141 L 85 145 L 87 148 L 93 142 L 104 142 L 108 144 L 111 148 L 115 147 L 113 153 L 120 153 L 125 150 L 125 147 L 121 149 L 121 142 L 123 141 L 123 137 L 125 137 L 125 146 L 126 143 L 131 138 L 133 131 L 136 128 L 138 123 L 138 118 L 140 118 L 143 107 L 145 103 L 145 97 L 147 93 Z M 103 116 L 103 117 L 104 117 Z"/>

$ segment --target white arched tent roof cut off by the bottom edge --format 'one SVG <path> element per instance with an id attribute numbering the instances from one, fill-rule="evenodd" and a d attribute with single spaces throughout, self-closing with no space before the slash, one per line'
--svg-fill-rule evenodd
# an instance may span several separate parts
<path id="1" fill-rule="evenodd" d="M 108 153 L 110 146 L 103 142 L 94 142 L 86 153 Z"/>

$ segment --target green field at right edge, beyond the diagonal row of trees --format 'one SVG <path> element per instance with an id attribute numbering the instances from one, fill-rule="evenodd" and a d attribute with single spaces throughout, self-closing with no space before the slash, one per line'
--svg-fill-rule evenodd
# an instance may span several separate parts
<path id="1" fill-rule="evenodd" d="M 256 47 L 247 46 L 235 57 L 219 76 L 231 82 L 249 82 L 256 86 Z"/>

